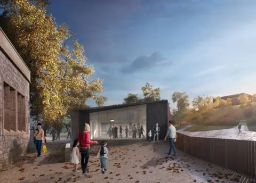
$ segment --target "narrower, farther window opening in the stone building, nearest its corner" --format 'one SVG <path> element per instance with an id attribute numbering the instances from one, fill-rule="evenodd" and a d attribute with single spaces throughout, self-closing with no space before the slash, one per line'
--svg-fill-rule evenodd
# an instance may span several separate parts
<path id="1" fill-rule="evenodd" d="M 26 105 L 25 105 L 25 96 L 17 92 L 18 100 L 18 130 L 26 131 Z"/>

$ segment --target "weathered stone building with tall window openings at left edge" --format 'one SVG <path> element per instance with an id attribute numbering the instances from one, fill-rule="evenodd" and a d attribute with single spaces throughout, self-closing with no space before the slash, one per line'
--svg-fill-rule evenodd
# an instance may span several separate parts
<path id="1" fill-rule="evenodd" d="M 0 169 L 29 147 L 30 71 L 0 28 Z"/>

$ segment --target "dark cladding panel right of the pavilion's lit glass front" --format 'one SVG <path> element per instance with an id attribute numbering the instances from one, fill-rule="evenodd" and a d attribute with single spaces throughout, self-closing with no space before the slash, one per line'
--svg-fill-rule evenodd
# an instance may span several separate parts
<path id="1" fill-rule="evenodd" d="M 156 123 L 158 123 L 160 127 L 159 139 L 161 140 L 164 139 L 167 130 L 167 106 L 167 101 L 147 104 L 147 130 L 153 130 Z"/>

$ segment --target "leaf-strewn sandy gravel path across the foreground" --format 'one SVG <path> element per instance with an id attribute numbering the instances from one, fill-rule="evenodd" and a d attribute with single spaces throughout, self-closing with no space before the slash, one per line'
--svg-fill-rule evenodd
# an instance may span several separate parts
<path id="1" fill-rule="evenodd" d="M 99 170 L 99 160 L 91 157 L 89 173 L 91 178 L 73 174 L 73 165 L 63 162 L 63 143 L 47 144 L 49 152 L 37 159 L 35 153 L 21 157 L 16 165 L 0 172 L 0 182 L 233 182 L 244 176 L 198 160 L 178 151 L 175 158 L 167 158 L 167 144 L 149 144 L 146 141 L 134 144 L 134 140 L 120 140 L 110 144 L 108 170 L 105 175 Z M 129 144 L 130 143 L 130 144 Z M 133 144 L 131 144 L 133 143 Z M 61 155 L 62 154 L 62 155 Z M 235 179 L 234 179 L 235 178 Z M 231 179 L 231 180 L 230 180 Z"/>

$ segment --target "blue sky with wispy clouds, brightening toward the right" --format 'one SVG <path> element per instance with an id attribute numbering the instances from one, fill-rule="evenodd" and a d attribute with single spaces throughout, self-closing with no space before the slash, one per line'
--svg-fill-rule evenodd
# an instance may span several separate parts
<path id="1" fill-rule="evenodd" d="M 174 91 L 256 93 L 255 9 L 254 0 L 54 0 L 49 12 L 76 33 L 112 105 L 142 96 L 146 82 L 170 102 Z"/>

